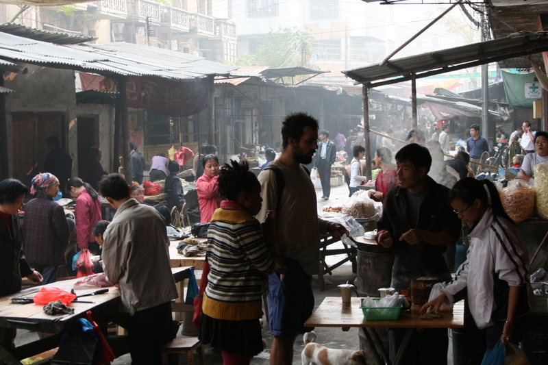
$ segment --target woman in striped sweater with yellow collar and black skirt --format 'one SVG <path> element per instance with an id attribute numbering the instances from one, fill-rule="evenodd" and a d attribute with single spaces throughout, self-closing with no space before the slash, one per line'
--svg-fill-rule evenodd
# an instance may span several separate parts
<path id="1" fill-rule="evenodd" d="M 274 212 L 262 225 L 261 186 L 247 162 L 231 161 L 219 171 L 219 193 L 208 231 L 210 273 L 203 295 L 199 338 L 221 349 L 223 364 L 249 364 L 263 350 L 264 276 L 274 271 Z"/>

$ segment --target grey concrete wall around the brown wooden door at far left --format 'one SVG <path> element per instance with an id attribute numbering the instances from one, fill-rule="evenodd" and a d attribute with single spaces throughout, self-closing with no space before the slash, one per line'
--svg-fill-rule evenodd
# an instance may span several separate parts
<path id="1" fill-rule="evenodd" d="M 4 81 L 6 88 L 15 91 L 6 95 L 5 98 L 8 136 L 13 135 L 13 113 L 34 115 L 47 113 L 61 114 L 64 118 L 63 128 L 67 141 L 64 148 L 69 153 L 75 154 L 75 168 L 77 168 L 74 72 L 31 64 L 19 64 L 19 68 L 21 71 L 26 68 L 27 72 L 24 74 L 12 73 L 6 75 L 7 79 Z M 44 136 L 45 138 L 47 136 Z M 16 159 L 16 156 L 12 155 L 14 142 L 12 138 L 8 138 L 10 175 L 13 172 L 14 159 Z"/>

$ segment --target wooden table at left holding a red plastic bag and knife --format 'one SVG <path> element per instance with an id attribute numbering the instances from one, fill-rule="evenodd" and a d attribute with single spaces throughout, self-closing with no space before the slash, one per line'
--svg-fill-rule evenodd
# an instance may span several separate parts
<path id="1" fill-rule="evenodd" d="M 190 276 L 190 267 L 188 266 L 172 268 L 171 271 L 175 281 L 182 281 Z M 70 292 L 73 288 L 73 284 L 75 284 L 77 280 L 79 279 L 57 281 L 55 283 L 47 284 L 46 286 L 60 288 Z M 43 305 L 36 305 L 34 303 L 15 304 L 10 300 L 11 297 L 32 298 L 40 288 L 41 286 L 34 286 L 21 290 L 21 292 L 0 297 L 0 327 L 53 333 L 53 336 L 41 338 L 35 342 L 16 347 L 13 350 L 5 349 L 0 345 L 0 363 L 5 362 L 10 365 L 21 364 L 20 361 L 27 357 L 58 347 L 62 333 L 70 329 L 78 318 L 85 316 L 88 311 L 91 311 L 94 315 L 116 311 L 120 297 L 118 288 L 110 287 L 108 288 L 109 291 L 105 294 L 82 298 L 82 301 L 91 301 L 92 303 L 71 303 L 69 307 L 74 308 L 74 313 L 60 316 L 49 316 L 48 314 L 45 314 Z M 75 292 L 77 295 L 82 295 L 95 292 L 95 290 L 98 289 L 80 289 L 75 290 Z M 103 329 L 105 328 L 106 327 Z M 117 340 L 122 339 L 117 338 Z M 127 340 L 127 338 L 124 338 L 123 340 Z M 118 353 L 117 355 L 121 355 L 121 353 Z"/>

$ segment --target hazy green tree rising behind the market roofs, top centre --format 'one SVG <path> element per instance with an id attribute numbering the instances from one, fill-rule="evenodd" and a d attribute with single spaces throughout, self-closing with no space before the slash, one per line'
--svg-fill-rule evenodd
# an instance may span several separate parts
<path id="1" fill-rule="evenodd" d="M 312 41 L 310 34 L 297 27 L 279 28 L 277 32 L 271 29 L 253 54 L 243 55 L 234 65 L 312 68 Z"/>

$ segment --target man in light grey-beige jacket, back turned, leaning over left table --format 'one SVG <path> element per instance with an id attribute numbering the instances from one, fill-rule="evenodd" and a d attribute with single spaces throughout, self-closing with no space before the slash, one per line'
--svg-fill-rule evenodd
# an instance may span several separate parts
<path id="1" fill-rule="evenodd" d="M 116 210 L 103 234 L 103 263 L 108 281 L 120 290 L 119 312 L 132 364 L 160 365 L 162 346 L 173 340 L 171 300 L 178 296 L 164 218 L 131 199 L 131 188 L 120 174 L 104 177 L 99 186 Z"/>

